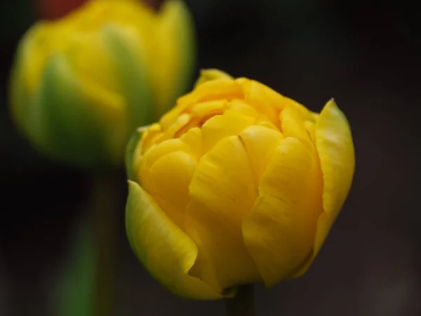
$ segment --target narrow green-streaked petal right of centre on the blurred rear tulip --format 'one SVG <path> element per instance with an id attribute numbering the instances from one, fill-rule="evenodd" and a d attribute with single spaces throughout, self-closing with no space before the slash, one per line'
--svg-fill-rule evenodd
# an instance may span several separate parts
<path id="1" fill-rule="evenodd" d="M 126 100 L 128 135 L 136 127 L 154 121 L 153 100 L 148 81 L 147 60 L 143 51 L 145 43 L 130 29 L 106 25 L 102 31 L 103 41 L 109 47 L 112 64 L 116 67 L 119 84 Z"/>

